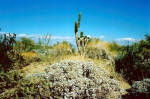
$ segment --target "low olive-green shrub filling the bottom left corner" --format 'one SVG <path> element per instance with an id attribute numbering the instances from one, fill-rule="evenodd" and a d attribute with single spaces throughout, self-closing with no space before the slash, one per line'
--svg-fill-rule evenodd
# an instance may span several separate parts
<path id="1" fill-rule="evenodd" d="M 50 96 L 49 83 L 44 78 L 26 78 L 18 71 L 7 74 L 7 77 L 7 84 L 0 85 L 3 88 L 0 90 L 0 99 L 46 99 Z"/>

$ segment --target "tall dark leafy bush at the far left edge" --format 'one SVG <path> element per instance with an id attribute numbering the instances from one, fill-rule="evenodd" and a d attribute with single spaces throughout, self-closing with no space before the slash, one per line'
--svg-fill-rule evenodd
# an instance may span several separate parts
<path id="1" fill-rule="evenodd" d="M 15 51 L 13 49 L 16 34 L 0 34 L 0 69 L 8 71 L 15 63 Z"/>

